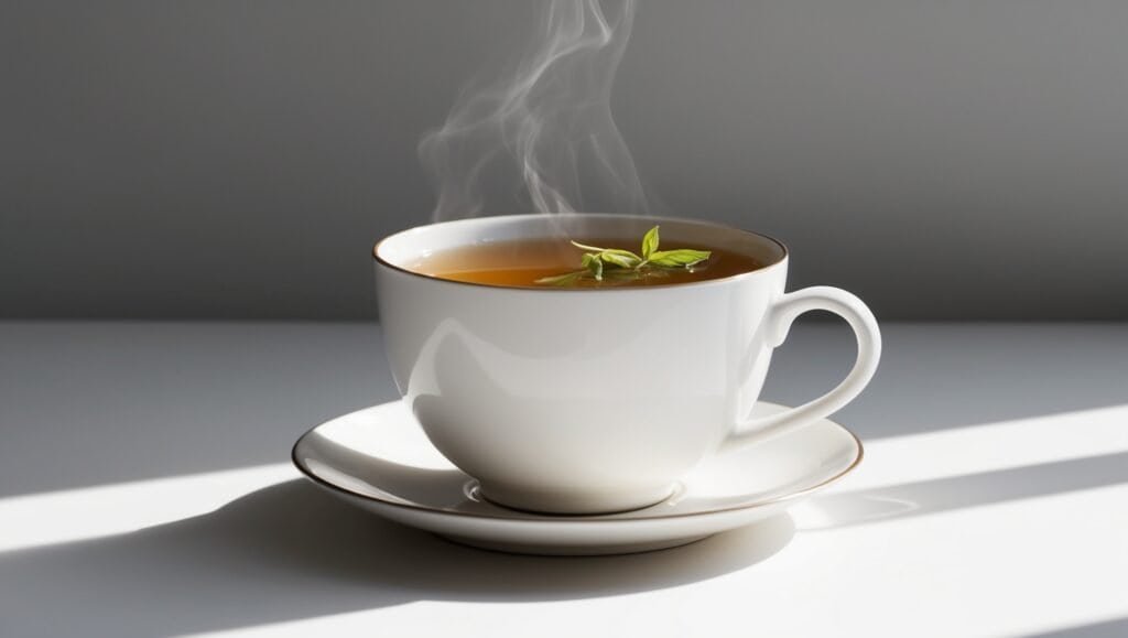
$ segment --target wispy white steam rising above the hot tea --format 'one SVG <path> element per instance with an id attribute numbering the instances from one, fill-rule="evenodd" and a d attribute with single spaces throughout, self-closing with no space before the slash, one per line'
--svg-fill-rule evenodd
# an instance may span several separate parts
<path id="1" fill-rule="evenodd" d="M 635 0 L 547 1 L 515 69 L 467 87 L 420 143 L 438 183 L 434 220 L 530 209 L 649 212 L 610 108 L 634 12 Z"/>

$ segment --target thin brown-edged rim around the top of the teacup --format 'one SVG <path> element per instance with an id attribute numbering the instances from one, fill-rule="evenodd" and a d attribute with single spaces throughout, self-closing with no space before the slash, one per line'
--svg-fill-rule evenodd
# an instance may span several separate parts
<path id="1" fill-rule="evenodd" d="M 710 220 L 706 220 L 706 219 L 693 219 L 693 218 L 687 218 L 687 217 L 649 216 L 649 215 L 624 215 L 624 213 L 614 213 L 614 212 L 611 212 L 611 213 L 608 213 L 608 212 L 574 212 L 574 213 L 570 212 L 570 213 L 561 213 L 561 215 L 583 216 L 583 217 L 601 217 L 601 218 L 606 218 L 606 219 L 652 219 L 652 220 L 655 220 L 659 224 L 661 224 L 664 220 L 664 221 L 675 221 L 675 222 L 681 222 L 681 224 L 693 224 L 693 225 L 697 225 L 697 226 L 711 226 L 711 227 L 714 227 L 714 228 L 720 228 L 720 229 L 730 230 L 730 231 L 737 231 L 737 233 L 744 233 L 747 235 L 755 235 L 757 237 L 761 237 L 764 239 L 767 239 L 768 242 L 772 242 L 776 246 L 778 246 L 779 250 L 783 252 L 783 254 L 782 254 L 782 256 L 778 260 L 776 260 L 775 262 L 773 262 L 770 264 L 767 264 L 767 265 L 765 265 L 763 268 L 758 268 L 756 270 L 749 270 L 747 272 L 739 272 L 737 274 L 732 274 L 732 276 L 729 276 L 729 277 L 722 277 L 722 278 L 719 278 L 719 279 L 705 279 L 705 280 L 702 280 L 702 281 L 686 281 L 686 282 L 681 282 L 681 283 L 652 283 L 652 285 L 649 285 L 649 286 L 608 286 L 607 288 L 557 288 L 557 287 L 549 287 L 549 286 L 501 286 L 501 285 L 497 285 L 497 283 L 483 283 L 483 282 L 478 282 L 478 281 L 460 281 L 460 280 L 455 280 L 455 279 L 444 279 L 442 277 L 435 277 L 433 274 L 425 274 L 425 273 L 422 273 L 422 272 L 416 272 L 414 270 L 409 270 L 409 269 L 406 269 L 404 266 L 396 265 L 396 264 L 389 262 L 388 260 L 384 259 L 382 256 L 380 256 L 380 246 L 384 245 L 385 242 L 388 242 L 389 239 L 394 239 L 396 237 L 399 237 L 400 235 L 405 235 L 405 234 L 408 234 L 408 233 L 421 231 L 424 228 L 432 228 L 432 227 L 435 227 L 435 226 L 458 225 L 458 224 L 472 224 L 472 222 L 479 221 L 479 220 L 485 220 L 485 219 L 496 219 L 496 220 L 512 219 L 512 220 L 517 220 L 517 219 L 539 219 L 539 218 L 544 218 L 545 217 L 545 213 L 535 212 L 535 213 L 519 213 L 519 215 L 491 215 L 491 216 L 470 217 L 470 218 L 465 218 L 465 219 L 451 219 L 451 220 L 448 220 L 448 221 L 438 221 L 438 222 L 432 222 L 432 224 L 422 224 L 422 225 L 418 225 L 418 226 L 412 226 L 411 228 L 405 228 L 403 230 L 397 230 L 397 231 L 395 231 L 395 233 L 393 233 L 393 234 L 384 237 L 379 242 L 377 242 L 372 246 L 372 259 L 376 261 L 376 263 L 378 263 L 378 264 L 380 264 L 384 268 L 387 268 L 389 270 L 394 270 L 394 271 L 397 271 L 397 272 L 402 272 L 404 274 L 409 274 L 412 277 L 417 277 L 417 278 L 421 278 L 421 279 L 424 279 L 424 280 L 428 280 L 428 281 L 433 281 L 433 282 L 437 282 L 437 283 L 449 283 L 449 285 L 455 285 L 455 286 L 474 286 L 474 287 L 478 287 L 478 288 L 490 288 L 490 289 L 493 289 L 493 290 L 513 290 L 513 291 L 522 291 L 522 292 L 553 292 L 553 294 L 557 294 L 557 292 L 571 292 L 571 294 L 593 292 L 593 294 L 606 294 L 606 292 L 610 292 L 610 291 L 617 291 L 617 292 L 640 294 L 640 292 L 644 292 L 646 290 L 662 290 L 662 289 L 667 289 L 667 288 L 700 288 L 700 287 L 705 287 L 705 286 L 723 286 L 723 285 L 730 283 L 730 282 L 732 282 L 734 280 L 756 277 L 756 276 L 759 276 L 761 273 L 766 273 L 768 271 L 775 270 L 777 268 L 783 268 L 787 263 L 787 257 L 791 255 L 791 251 L 787 248 L 787 245 L 784 244 L 778 238 L 773 237 L 772 235 L 767 235 L 765 233 L 759 233 L 759 231 L 756 231 L 756 230 L 748 230 L 746 228 L 739 228 L 739 227 L 735 227 L 735 226 L 729 226 L 728 224 L 720 224 L 720 222 L 716 222 L 716 221 L 710 221 Z"/>

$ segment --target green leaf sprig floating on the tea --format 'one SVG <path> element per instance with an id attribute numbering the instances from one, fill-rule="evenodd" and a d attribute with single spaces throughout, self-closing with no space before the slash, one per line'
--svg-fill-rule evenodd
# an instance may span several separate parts
<path id="1" fill-rule="evenodd" d="M 704 262 L 713 254 L 710 251 L 693 248 L 659 251 L 658 226 L 643 235 L 641 255 L 623 248 L 601 248 L 579 242 L 572 242 L 572 245 L 583 251 L 590 251 L 580 259 L 582 270 L 544 277 L 538 279 L 537 283 L 571 286 L 583 279 L 632 281 L 650 276 L 666 276 L 672 270 L 691 270 L 693 266 Z"/>

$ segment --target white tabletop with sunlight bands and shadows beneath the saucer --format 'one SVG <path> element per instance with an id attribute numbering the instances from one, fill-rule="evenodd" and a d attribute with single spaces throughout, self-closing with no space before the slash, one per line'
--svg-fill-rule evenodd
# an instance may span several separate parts
<path id="1" fill-rule="evenodd" d="M 788 517 L 536 558 L 327 498 L 293 439 L 396 399 L 364 324 L 0 322 L 0 636 L 1125 636 L 1128 324 L 885 324 Z M 853 346 L 796 326 L 765 399 Z"/>

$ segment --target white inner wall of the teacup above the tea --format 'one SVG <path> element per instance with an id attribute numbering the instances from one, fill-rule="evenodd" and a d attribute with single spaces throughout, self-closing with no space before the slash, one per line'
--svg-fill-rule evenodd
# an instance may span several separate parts
<path id="1" fill-rule="evenodd" d="M 783 244 L 772 237 L 710 221 L 590 213 L 478 217 L 420 226 L 385 238 L 376 245 L 373 255 L 393 268 L 423 274 L 431 255 L 469 245 L 584 236 L 622 237 L 624 245 L 633 245 L 655 225 L 662 227 L 663 243 L 728 250 L 751 256 L 763 266 L 774 265 L 787 255 Z"/>

